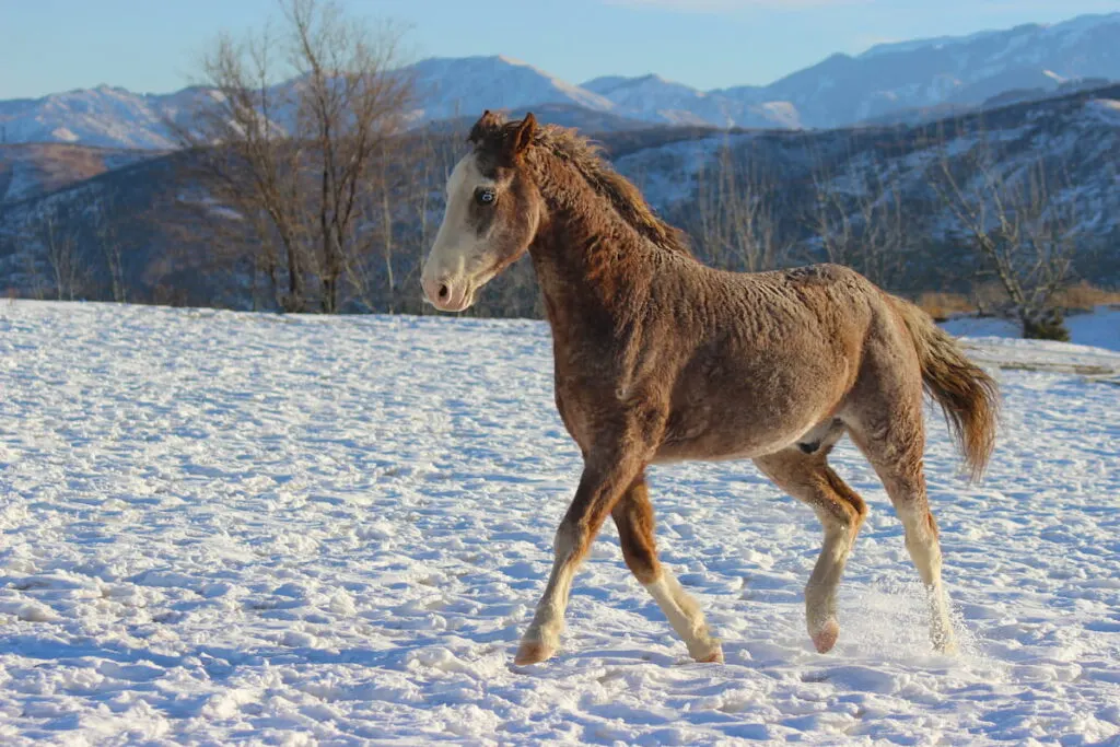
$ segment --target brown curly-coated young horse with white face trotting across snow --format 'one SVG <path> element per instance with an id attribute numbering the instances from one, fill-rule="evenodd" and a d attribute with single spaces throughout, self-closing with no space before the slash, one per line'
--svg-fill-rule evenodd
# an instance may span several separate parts
<path id="1" fill-rule="evenodd" d="M 816 651 L 830 651 L 840 633 L 837 587 L 867 516 L 828 464 L 846 435 L 902 520 L 933 647 L 955 651 L 923 474 L 923 390 L 978 478 L 996 439 L 992 377 L 928 315 L 851 269 L 703 264 L 573 130 L 487 110 L 467 140 L 423 263 L 424 297 L 463 311 L 529 253 L 552 333 L 556 407 L 584 461 L 515 665 L 559 648 L 572 578 L 607 516 L 626 564 L 691 657 L 724 661 L 699 605 L 657 559 L 645 473 L 679 460 L 752 459 L 813 508 L 824 541 L 805 586 L 805 620 Z"/>

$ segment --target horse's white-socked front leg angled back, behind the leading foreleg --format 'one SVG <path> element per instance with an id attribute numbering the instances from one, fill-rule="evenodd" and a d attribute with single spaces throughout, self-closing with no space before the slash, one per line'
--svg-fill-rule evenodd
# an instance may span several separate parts
<path id="1" fill-rule="evenodd" d="M 640 475 L 631 485 L 615 504 L 610 515 L 618 527 L 618 540 L 626 564 L 656 600 L 669 618 L 669 624 L 684 639 L 692 659 L 698 662 L 724 661 L 719 641 L 709 634 L 700 606 L 657 560 L 653 506 L 650 504 L 644 476 Z"/>

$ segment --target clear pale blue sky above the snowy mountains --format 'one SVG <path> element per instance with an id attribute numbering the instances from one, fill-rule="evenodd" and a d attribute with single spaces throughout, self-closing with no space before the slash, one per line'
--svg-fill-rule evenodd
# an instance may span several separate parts
<path id="1" fill-rule="evenodd" d="M 1120 11 L 1120 0 L 343 0 L 410 27 L 413 58 L 505 54 L 580 83 L 604 74 L 702 88 L 769 83 L 834 52 Z M 101 83 L 168 92 L 222 30 L 276 0 L 0 0 L 0 99 Z"/>

